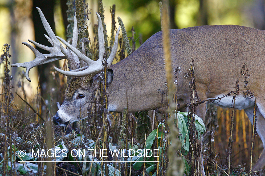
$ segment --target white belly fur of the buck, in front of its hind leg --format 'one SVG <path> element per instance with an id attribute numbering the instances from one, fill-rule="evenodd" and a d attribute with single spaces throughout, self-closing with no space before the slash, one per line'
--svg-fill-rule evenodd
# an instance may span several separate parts
<path id="1" fill-rule="evenodd" d="M 220 94 L 216 96 L 215 98 L 220 98 L 223 97 L 225 94 Z M 210 99 L 215 99 L 215 98 L 210 98 Z M 220 101 L 214 101 L 213 103 L 217 104 L 218 106 L 221 106 L 223 108 L 231 108 L 232 107 L 232 100 L 233 100 L 233 94 L 229 97 L 224 97 Z M 236 96 L 236 101 L 235 101 L 235 108 L 242 110 L 245 108 L 249 108 L 251 106 L 254 106 L 255 103 L 255 98 L 250 98 L 250 97 L 243 97 L 243 93 L 240 93 Z"/>

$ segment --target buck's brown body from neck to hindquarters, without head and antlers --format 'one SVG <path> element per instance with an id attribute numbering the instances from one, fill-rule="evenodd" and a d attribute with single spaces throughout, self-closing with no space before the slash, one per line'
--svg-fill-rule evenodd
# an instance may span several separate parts
<path id="1" fill-rule="evenodd" d="M 201 100 L 222 97 L 235 90 L 235 84 L 244 64 L 250 70 L 248 85 L 244 88 L 241 78 L 240 91 L 254 92 L 257 98 L 257 132 L 265 142 L 265 31 L 235 25 L 199 26 L 180 30 L 171 30 L 172 67 L 180 67 L 178 74 L 178 103 L 180 111 L 186 111 L 189 103 L 190 78 L 185 74 L 190 69 L 190 56 L 195 64 L 196 90 Z M 112 65 L 113 81 L 107 88 L 109 92 L 109 111 L 142 111 L 159 108 L 165 90 L 165 66 L 162 44 L 162 32 L 150 37 L 142 46 L 126 59 Z M 127 91 L 127 94 L 126 94 Z M 127 96 L 127 97 L 126 97 Z M 232 97 L 218 102 L 222 107 L 231 107 Z M 244 98 L 240 93 L 235 100 L 235 108 L 244 109 L 251 123 L 255 98 Z M 165 100 L 165 99 L 164 99 Z M 203 120 L 206 104 L 197 107 L 196 114 Z M 264 150 L 253 170 L 265 166 Z"/>

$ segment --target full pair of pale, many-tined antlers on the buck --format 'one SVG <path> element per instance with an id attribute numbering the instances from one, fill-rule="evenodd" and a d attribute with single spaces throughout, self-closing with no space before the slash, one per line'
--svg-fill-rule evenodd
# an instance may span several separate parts
<path id="1" fill-rule="evenodd" d="M 73 29 L 72 45 L 70 45 L 68 42 L 61 39 L 60 37 L 57 37 L 68 47 L 67 49 L 64 49 L 63 46 L 60 44 L 59 40 L 56 38 L 54 32 L 52 31 L 52 29 L 49 25 L 49 23 L 47 22 L 46 18 L 44 17 L 41 9 L 39 9 L 37 7 L 37 10 L 38 10 L 39 15 L 41 17 L 41 21 L 43 23 L 43 26 L 44 26 L 44 28 L 45 28 L 45 30 L 49 36 L 47 36 L 45 34 L 44 35 L 48 39 L 48 41 L 51 43 L 52 47 L 41 45 L 41 44 L 39 44 L 35 41 L 32 41 L 32 40 L 28 40 L 28 41 L 33 43 L 34 45 L 38 46 L 41 49 L 49 51 L 50 54 L 42 54 L 37 49 L 35 49 L 33 46 L 28 44 L 27 42 L 23 42 L 24 45 L 28 46 L 29 49 L 33 51 L 33 53 L 36 55 L 36 58 L 30 62 L 12 64 L 11 65 L 12 67 L 17 66 L 17 67 L 26 68 L 27 69 L 26 70 L 26 79 L 29 82 L 31 82 L 31 80 L 29 78 L 29 70 L 30 69 L 32 69 L 33 67 L 35 67 L 37 65 L 49 63 L 49 62 L 52 62 L 55 60 L 60 60 L 60 59 L 67 59 L 69 64 L 70 64 L 70 68 L 74 69 L 74 70 L 66 72 L 64 70 L 60 70 L 60 69 L 55 67 L 55 69 L 58 72 L 60 72 L 64 75 L 67 75 L 67 76 L 86 76 L 89 74 L 99 73 L 101 71 L 101 64 L 102 64 L 102 60 L 103 60 L 103 56 L 104 56 L 104 35 L 103 35 L 103 27 L 102 27 L 101 18 L 100 18 L 98 13 L 97 13 L 97 16 L 98 16 L 98 21 L 99 21 L 99 29 L 98 29 L 98 33 L 99 33 L 99 59 L 97 61 L 93 61 L 93 60 L 89 59 L 88 57 L 86 57 L 85 55 L 83 55 L 80 51 L 78 51 L 76 49 L 77 37 L 78 37 L 76 14 L 74 16 L 74 29 Z M 119 31 L 120 31 L 120 27 L 119 27 L 118 32 L 116 34 L 111 54 L 107 60 L 108 66 L 110 66 L 112 64 L 112 61 L 114 60 L 116 52 L 117 52 Z M 79 61 L 78 57 L 81 60 L 85 61 L 89 66 L 85 66 L 85 67 L 80 68 L 80 61 Z M 88 68 L 90 70 L 88 70 Z"/>

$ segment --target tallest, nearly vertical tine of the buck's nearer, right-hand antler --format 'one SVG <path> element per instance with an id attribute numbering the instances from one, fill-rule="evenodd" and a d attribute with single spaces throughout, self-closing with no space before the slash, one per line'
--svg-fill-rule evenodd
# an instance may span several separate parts
<path id="1" fill-rule="evenodd" d="M 105 41 L 104 41 L 104 33 L 103 33 L 101 17 L 98 14 L 98 12 L 96 12 L 96 15 L 98 16 L 98 39 L 99 39 L 99 59 L 98 60 L 102 63 L 104 53 L 105 53 L 105 47 L 104 47 Z"/>

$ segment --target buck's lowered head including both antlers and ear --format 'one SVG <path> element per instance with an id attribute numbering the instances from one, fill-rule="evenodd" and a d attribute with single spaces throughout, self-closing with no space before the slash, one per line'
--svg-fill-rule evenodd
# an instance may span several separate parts
<path id="1" fill-rule="evenodd" d="M 70 83 L 68 88 L 65 90 L 65 100 L 61 107 L 59 108 L 56 115 L 53 117 L 53 121 L 56 125 L 65 126 L 68 123 L 78 121 L 80 119 L 87 117 L 87 107 L 89 106 L 88 101 L 91 97 L 91 92 L 95 83 L 93 83 L 92 77 L 102 70 L 102 62 L 104 59 L 104 34 L 101 17 L 96 13 L 98 17 L 98 39 L 99 39 L 99 58 L 94 61 L 88 58 L 86 55 L 81 53 L 77 46 L 78 39 L 78 29 L 77 29 L 77 20 L 76 14 L 74 16 L 74 28 L 73 28 L 73 38 L 72 44 L 69 44 L 62 38 L 55 36 L 50 25 L 45 19 L 41 9 L 37 8 L 39 15 L 41 17 L 43 26 L 48 33 L 48 36 L 45 37 L 51 43 L 52 47 L 41 45 L 35 41 L 28 40 L 34 45 L 49 51 L 50 54 L 42 54 L 33 46 L 27 42 L 23 42 L 24 45 L 28 46 L 30 50 L 36 55 L 36 58 L 33 61 L 26 63 L 17 63 L 12 64 L 11 66 L 24 67 L 26 68 L 26 79 L 30 82 L 29 70 L 37 65 L 49 63 L 55 60 L 67 59 L 70 65 L 70 71 L 64 71 L 59 68 L 54 67 L 56 71 L 66 76 L 71 76 Z M 112 47 L 111 54 L 107 59 L 107 68 L 112 64 L 117 48 L 118 48 L 118 34 L 120 27 L 118 28 L 117 34 L 115 36 L 114 44 Z M 63 48 L 59 40 L 67 46 L 67 49 Z M 82 43 L 82 50 L 84 51 L 84 44 Z M 81 60 L 81 63 L 80 63 Z M 113 72 L 111 69 L 107 70 L 107 82 L 110 84 L 112 82 Z M 74 101 L 73 101 L 74 100 Z M 74 107 L 74 108 L 69 108 Z"/>

